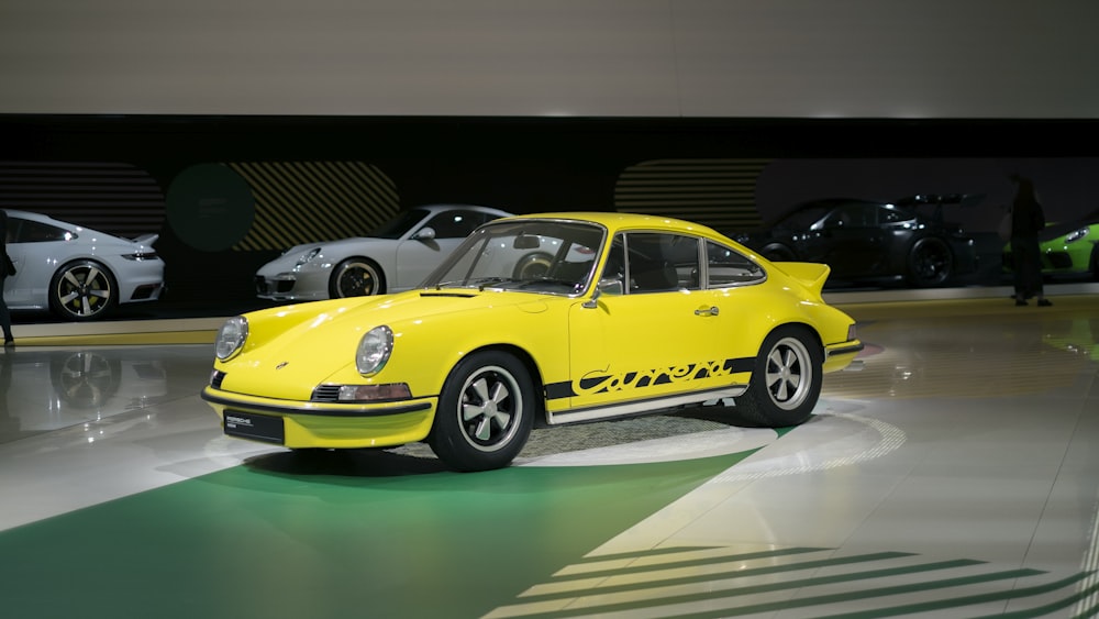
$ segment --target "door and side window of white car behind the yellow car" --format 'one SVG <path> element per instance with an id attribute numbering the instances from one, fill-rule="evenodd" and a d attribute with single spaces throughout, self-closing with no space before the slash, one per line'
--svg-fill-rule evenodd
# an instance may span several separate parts
<path id="1" fill-rule="evenodd" d="M 390 281 L 390 289 L 406 290 L 419 286 L 466 236 L 491 219 L 496 215 L 452 209 L 436 213 L 412 230 L 397 247 L 397 273 L 396 279 Z"/>

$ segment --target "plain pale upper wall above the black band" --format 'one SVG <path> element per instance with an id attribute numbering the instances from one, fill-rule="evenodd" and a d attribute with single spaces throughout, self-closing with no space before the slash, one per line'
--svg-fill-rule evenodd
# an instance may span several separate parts
<path id="1" fill-rule="evenodd" d="M 1096 0 L 0 0 L 0 113 L 1099 117 Z"/>

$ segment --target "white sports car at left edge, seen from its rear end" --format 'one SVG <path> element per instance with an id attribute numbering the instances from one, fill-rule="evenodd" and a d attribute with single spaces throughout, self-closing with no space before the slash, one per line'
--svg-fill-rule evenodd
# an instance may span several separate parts
<path id="1" fill-rule="evenodd" d="M 103 318 L 119 303 L 164 291 L 157 234 L 129 240 L 26 211 L 8 210 L 8 255 L 15 275 L 3 297 L 13 310 L 49 310 L 65 320 Z"/>

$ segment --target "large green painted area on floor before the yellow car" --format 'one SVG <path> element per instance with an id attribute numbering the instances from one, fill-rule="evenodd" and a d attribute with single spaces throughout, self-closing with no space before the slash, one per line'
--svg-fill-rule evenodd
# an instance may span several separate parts
<path id="1" fill-rule="evenodd" d="M 0 597 L 20 618 L 479 617 L 750 453 L 465 475 L 277 453 L 0 533 Z"/>

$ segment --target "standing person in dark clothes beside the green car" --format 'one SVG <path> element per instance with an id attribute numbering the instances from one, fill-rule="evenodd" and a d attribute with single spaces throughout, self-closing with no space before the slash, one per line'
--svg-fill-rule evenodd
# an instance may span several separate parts
<path id="1" fill-rule="evenodd" d="M 1015 267 L 1015 305 L 1025 306 L 1028 297 L 1037 297 L 1037 305 L 1053 303 L 1042 289 L 1042 254 L 1037 235 L 1045 228 L 1045 213 L 1034 191 L 1034 181 L 1018 174 L 1014 181 L 1015 199 L 1011 203 L 1011 255 Z"/>

